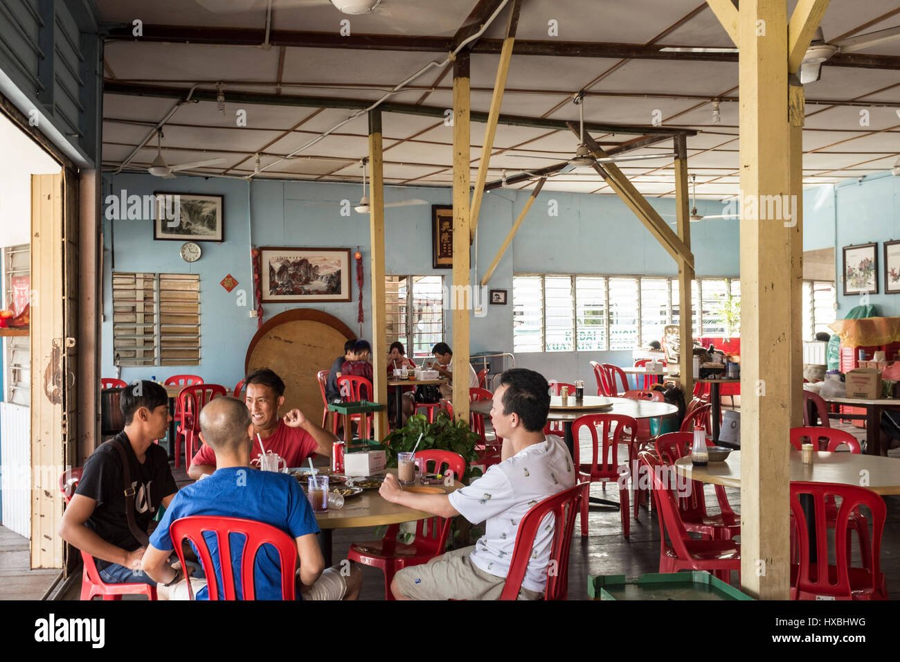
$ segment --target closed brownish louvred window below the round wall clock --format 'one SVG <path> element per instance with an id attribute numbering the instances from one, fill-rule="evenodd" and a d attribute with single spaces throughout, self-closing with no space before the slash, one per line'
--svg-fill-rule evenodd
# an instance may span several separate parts
<path id="1" fill-rule="evenodd" d="M 200 276 L 112 274 L 112 351 L 122 366 L 199 366 Z"/>

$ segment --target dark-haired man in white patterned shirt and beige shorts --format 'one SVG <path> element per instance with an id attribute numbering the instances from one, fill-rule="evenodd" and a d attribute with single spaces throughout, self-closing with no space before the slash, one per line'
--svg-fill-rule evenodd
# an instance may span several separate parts
<path id="1" fill-rule="evenodd" d="M 558 437 L 544 434 L 549 389 L 547 380 L 532 370 L 513 368 L 500 376 L 491 422 L 503 439 L 503 461 L 472 485 L 452 494 L 413 494 L 403 492 L 394 476 L 387 476 L 381 487 L 387 501 L 441 517 L 463 515 L 473 524 L 487 521 L 485 534 L 473 547 L 398 572 L 391 585 L 398 600 L 500 597 L 522 517 L 536 503 L 575 485 L 568 449 Z M 553 534 L 552 526 L 537 532 L 519 600 L 543 597 Z"/>

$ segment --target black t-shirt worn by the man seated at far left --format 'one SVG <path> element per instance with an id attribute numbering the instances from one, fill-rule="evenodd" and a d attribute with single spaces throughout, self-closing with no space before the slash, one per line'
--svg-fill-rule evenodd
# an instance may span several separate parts
<path id="1" fill-rule="evenodd" d="M 120 432 L 116 440 L 102 444 L 100 448 L 94 450 L 90 458 L 87 458 L 75 491 L 75 494 L 83 494 L 97 502 L 94 512 L 87 519 L 87 526 L 112 545 L 125 551 L 134 551 L 140 547 L 140 543 L 134 539 L 128 528 L 121 456 L 119 451 L 112 447 L 112 444 L 118 443 L 120 439 L 125 442 L 131 485 L 135 491 L 134 521 L 141 531 L 148 530 L 163 497 L 175 494 L 178 487 L 168 466 L 166 450 L 157 444 L 150 444 L 144 463 L 140 464 L 125 432 Z M 97 559 L 96 563 L 98 569 L 110 565 L 101 559 Z"/>

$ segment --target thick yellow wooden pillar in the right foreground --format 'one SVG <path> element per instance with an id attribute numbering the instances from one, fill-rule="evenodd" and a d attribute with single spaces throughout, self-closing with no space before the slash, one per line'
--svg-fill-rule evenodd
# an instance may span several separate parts
<path id="1" fill-rule="evenodd" d="M 790 194 L 788 7 L 743 0 L 741 86 L 741 582 L 787 600 L 790 579 L 790 237 L 770 201 Z M 788 197 L 789 199 L 789 197 Z M 774 204 L 772 205 L 774 206 Z M 756 213 L 753 213 L 755 209 Z M 776 218 L 771 216 L 775 215 Z M 763 482 L 764 481 L 764 482 Z"/>

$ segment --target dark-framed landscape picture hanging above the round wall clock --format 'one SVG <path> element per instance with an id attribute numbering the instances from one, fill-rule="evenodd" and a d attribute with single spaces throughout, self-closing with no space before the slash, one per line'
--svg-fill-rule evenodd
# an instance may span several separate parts
<path id="1" fill-rule="evenodd" d="M 222 241 L 225 239 L 222 195 L 156 192 L 153 239 Z"/>

